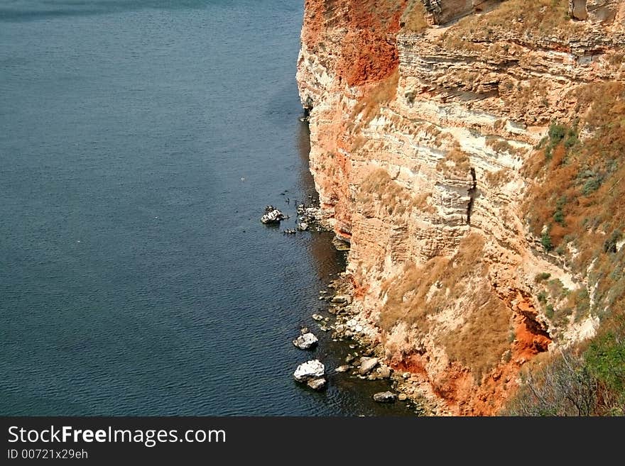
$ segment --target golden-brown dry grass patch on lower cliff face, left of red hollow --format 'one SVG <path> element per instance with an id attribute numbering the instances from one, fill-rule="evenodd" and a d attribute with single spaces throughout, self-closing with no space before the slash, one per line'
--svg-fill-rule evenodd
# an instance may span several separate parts
<path id="1" fill-rule="evenodd" d="M 407 262 L 398 276 L 382 284 L 387 299 L 379 321 L 386 332 L 402 322 L 425 332 L 428 316 L 462 300 L 466 321 L 444 344 L 452 360 L 469 367 L 477 379 L 509 349 L 511 329 L 511 311 L 484 279 L 488 266 L 482 262 L 483 248 L 484 238 L 473 233 L 453 257 L 433 257 L 423 265 Z"/>

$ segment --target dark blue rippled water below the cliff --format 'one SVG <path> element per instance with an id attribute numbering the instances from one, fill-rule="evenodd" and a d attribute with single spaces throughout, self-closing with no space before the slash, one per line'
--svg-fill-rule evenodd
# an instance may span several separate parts
<path id="1" fill-rule="evenodd" d="M 348 351 L 290 343 L 341 270 L 330 233 L 259 222 L 314 193 L 302 16 L 293 0 L 0 0 L 0 414 L 410 412 L 371 401 L 381 382 L 291 377 Z"/>

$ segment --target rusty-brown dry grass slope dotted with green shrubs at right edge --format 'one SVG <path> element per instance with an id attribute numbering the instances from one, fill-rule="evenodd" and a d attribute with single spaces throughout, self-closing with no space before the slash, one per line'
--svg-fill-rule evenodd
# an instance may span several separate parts
<path id="1" fill-rule="evenodd" d="M 536 178 L 523 204 L 533 234 L 540 236 L 548 226 L 551 242 L 570 263 L 572 270 L 587 277 L 589 288 L 598 284 L 595 309 L 589 299 L 573 294 L 554 310 L 581 318 L 593 314 L 623 314 L 625 250 L 614 244 L 625 231 L 625 85 L 616 82 L 589 84 L 577 89 L 582 118 L 578 124 L 592 131 L 586 140 L 560 140 L 545 157 L 546 148 L 537 150 L 527 174 Z M 570 122 L 571 128 L 575 122 Z M 549 143 L 547 143 L 547 147 Z M 570 257 L 566 245 L 579 251 Z M 592 272 L 587 267 L 594 262 Z"/>

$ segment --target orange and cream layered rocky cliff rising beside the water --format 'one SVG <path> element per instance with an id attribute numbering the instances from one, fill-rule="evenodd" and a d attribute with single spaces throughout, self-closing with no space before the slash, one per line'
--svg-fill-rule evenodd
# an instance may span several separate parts
<path id="1" fill-rule="evenodd" d="M 361 338 L 436 413 L 496 414 L 618 300 L 597 206 L 620 209 L 620 172 L 592 144 L 625 130 L 625 2 L 306 0 L 301 39 Z"/>

